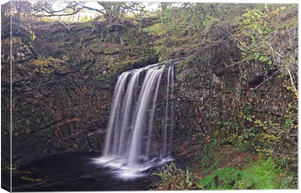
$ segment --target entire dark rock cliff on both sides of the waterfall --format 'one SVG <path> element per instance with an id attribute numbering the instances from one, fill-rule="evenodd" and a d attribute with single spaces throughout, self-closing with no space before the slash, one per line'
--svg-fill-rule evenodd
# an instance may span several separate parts
<path id="1" fill-rule="evenodd" d="M 116 30 L 103 35 L 101 29 L 87 32 L 83 26 L 74 26 L 69 33 L 50 28 L 36 34 L 33 47 L 21 37 L 13 36 L 13 164 L 55 153 L 101 151 L 117 75 L 157 60 L 154 54 L 124 50 L 127 43 L 122 39 L 126 37 Z M 282 79 L 271 77 L 273 70 L 268 72 L 272 75 L 263 74 L 264 64 L 225 66 L 225 61 L 240 59 L 238 50 L 229 47 L 232 44 L 227 41 L 210 50 L 200 48 L 199 53 L 175 66 L 174 94 L 170 100 L 173 107 L 169 109 L 169 115 L 174 117 L 169 133 L 175 157 L 192 157 L 197 154 L 196 143 L 210 141 L 215 131 L 229 133 L 235 129 L 224 123 L 236 123 L 244 128 L 247 123 L 241 116 L 247 111 L 270 118 L 281 117 L 286 111 L 280 101 L 271 100 L 279 92 L 288 94 L 279 86 Z M 7 38 L 1 40 L 1 109 L 7 115 L 8 42 Z M 72 61 L 64 70 L 54 69 L 50 74 L 42 74 L 34 72 L 31 65 L 37 53 L 53 57 L 69 54 Z M 204 53 L 210 53 L 209 58 L 202 57 Z M 128 57 L 123 57 L 126 55 Z M 117 71 L 115 63 L 123 68 Z M 263 77 L 271 78 L 263 83 Z M 164 87 L 159 95 L 158 114 L 165 108 Z M 160 119 L 163 116 L 156 120 L 154 141 L 159 140 L 163 132 Z M 2 134 L 8 136 L 8 116 L 3 117 L 1 125 Z M 157 146 L 160 148 L 160 144 Z"/>

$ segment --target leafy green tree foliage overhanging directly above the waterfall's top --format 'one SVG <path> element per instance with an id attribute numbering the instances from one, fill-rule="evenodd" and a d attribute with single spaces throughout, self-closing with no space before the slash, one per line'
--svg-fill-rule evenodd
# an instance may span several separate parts
<path id="1" fill-rule="evenodd" d="M 195 53 L 206 41 L 217 43 L 218 40 L 209 37 L 210 30 L 217 25 L 229 25 L 250 5 L 172 3 L 161 6 L 162 16 L 144 30 L 157 37 L 153 48 L 162 59 L 168 59 Z"/>

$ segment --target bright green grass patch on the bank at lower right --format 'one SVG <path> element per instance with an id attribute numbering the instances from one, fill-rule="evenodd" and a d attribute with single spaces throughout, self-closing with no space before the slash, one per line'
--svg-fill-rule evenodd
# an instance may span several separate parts
<path id="1" fill-rule="evenodd" d="M 279 188 L 277 176 L 280 170 L 274 165 L 271 158 L 260 158 L 241 170 L 234 167 L 215 170 L 201 179 L 198 187 L 207 190 L 276 189 Z"/>

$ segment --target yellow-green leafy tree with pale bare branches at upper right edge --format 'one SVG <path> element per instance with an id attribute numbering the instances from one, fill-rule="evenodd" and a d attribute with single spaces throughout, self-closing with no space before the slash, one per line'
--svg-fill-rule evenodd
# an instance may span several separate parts
<path id="1" fill-rule="evenodd" d="M 244 60 L 255 60 L 288 74 L 298 98 L 298 5 L 261 5 L 237 21 L 234 38 Z M 268 79 L 265 79 L 267 81 Z"/>

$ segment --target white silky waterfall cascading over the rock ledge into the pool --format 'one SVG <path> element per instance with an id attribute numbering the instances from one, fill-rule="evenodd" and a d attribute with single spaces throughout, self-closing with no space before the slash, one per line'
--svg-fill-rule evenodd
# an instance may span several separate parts
<path id="1" fill-rule="evenodd" d="M 173 67 L 170 64 L 165 70 L 164 64 L 158 63 L 123 72 L 118 77 L 103 155 L 94 162 L 111 167 L 118 177 L 134 178 L 144 175 L 143 171 L 153 166 L 172 160 L 167 153 L 167 141 L 171 136 L 168 120 L 173 117 L 173 113 L 168 115 L 168 109 L 173 110 L 168 105 L 173 94 Z M 161 80 L 163 74 L 167 76 L 167 84 Z M 159 155 L 153 156 L 151 137 L 158 92 L 163 85 L 167 91 L 162 148 Z"/>

